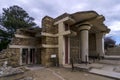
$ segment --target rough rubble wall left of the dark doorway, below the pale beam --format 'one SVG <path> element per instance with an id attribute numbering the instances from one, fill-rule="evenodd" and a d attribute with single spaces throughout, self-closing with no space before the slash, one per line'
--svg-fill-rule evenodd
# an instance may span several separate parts
<path id="1" fill-rule="evenodd" d="M 20 49 L 7 48 L 0 53 L 0 64 L 4 61 L 8 61 L 8 65 L 16 67 L 19 66 Z"/>

